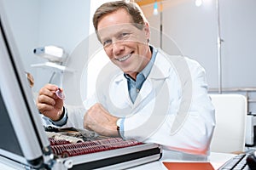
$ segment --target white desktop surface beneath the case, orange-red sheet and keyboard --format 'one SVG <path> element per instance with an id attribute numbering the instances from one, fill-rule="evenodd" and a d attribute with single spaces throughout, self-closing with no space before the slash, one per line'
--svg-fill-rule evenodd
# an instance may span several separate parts
<path id="1" fill-rule="evenodd" d="M 214 167 L 214 169 L 218 169 L 218 167 L 223 165 L 225 161 L 228 161 L 233 156 L 236 156 L 236 155 L 212 152 L 210 154 L 209 161 L 212 163 L 212 167 Z M 175 160 L 170 160 L 166 157 L 162 157 L 160 161 L 154 161 L 141 166 L 131 167 L 129 168 L 129 170 L 148 170 L 148 169 L 167 170 L 167 168 L 162 164 L 162 161 L 175 161 Z M 10 165 L 3 164 L 1 160 L 0 160 L 0 167 L 1 169 L 4 169 L 4 170 L 17 170 L 15 167 L 11 167 Z"/>

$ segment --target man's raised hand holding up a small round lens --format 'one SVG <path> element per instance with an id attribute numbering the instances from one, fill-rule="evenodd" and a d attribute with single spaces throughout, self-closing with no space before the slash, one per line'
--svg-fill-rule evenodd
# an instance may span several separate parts
<path id="1" fill-rule="evenodd" d="M 63 100 L 59 99 L 55 91 L 58 89 L 53 84 L 46 84 L 39 90 L 37 106 L 40 113 L 49 117 L 52 121 L 58 121 L 63 112 Z"/>

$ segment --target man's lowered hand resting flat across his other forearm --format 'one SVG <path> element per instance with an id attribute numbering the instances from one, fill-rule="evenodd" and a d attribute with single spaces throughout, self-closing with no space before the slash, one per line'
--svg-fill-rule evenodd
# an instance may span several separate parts
<path id="1" fill-rule="evenodd" d="M 112 116 L 101 104 L 96 104 L 84 115 L 84 128 L 103 136 L 118 137 L 116 122 L 119 117 Z"/>

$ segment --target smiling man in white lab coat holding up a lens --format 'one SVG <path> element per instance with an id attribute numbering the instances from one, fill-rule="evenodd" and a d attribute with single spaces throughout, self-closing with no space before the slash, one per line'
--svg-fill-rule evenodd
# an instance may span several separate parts
<path id="1" fill-rule="evenodd" d="M 83 113 L 67 111 L 53 84 L 40 90 L 39 111 L 55 125 L 153 142 L 179 155 L 207 156 L 215 116 L 201 65 L 150 45 L 148 20 L 137 3 L 104 3 L 93 24 L 119 71 L 98 77 L 104 83 L 84 101 Z"/>

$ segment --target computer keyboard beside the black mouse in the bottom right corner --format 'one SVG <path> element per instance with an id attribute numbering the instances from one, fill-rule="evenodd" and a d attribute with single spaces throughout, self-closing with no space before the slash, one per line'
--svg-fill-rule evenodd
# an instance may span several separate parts
<path id="1" fill-rule="evenodd" d="M 242 153 L 235 157 L 232 157 L 229 161 L 225 162 L 223 166 L 219 167 L 218 170 L 250 170 L 247 165 L 247 156 L 249 156 L 249 153 Z"/>

